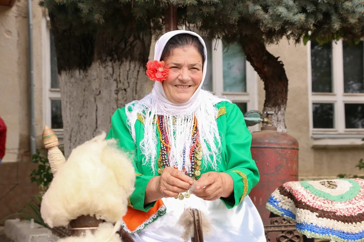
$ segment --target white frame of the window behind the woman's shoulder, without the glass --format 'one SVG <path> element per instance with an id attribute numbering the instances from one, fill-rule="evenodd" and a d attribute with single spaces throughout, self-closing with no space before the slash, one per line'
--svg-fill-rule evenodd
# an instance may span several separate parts
<path id="1" fill-rule="evenodd" d="M 212 41 L 212 49 L 207 50 L 212 54 L 212 93 L 217 96 L 225 96 L 233 102 L 245 102 L 246 109 L 258 110 L 258 85 L 257 72 L 249 61 L 245 61 L 246 92 L 223 91 L 223 43 L 221 39 Z M 259 131 L 259 125 L 248 127 L 251 132 Z"/>

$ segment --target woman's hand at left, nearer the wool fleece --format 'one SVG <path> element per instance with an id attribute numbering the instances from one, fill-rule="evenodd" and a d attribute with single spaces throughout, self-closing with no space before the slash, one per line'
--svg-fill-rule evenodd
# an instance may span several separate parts
<path id="1" fill-rule="evenodd" d="M 153 177 L 148 182 L 144 204 L 157 201 L 162 197 L 178 197 L 179 193 L 186 192 L 192 184 L 191 177 L 177 169 L 166 167 L 161 176 Z"/>

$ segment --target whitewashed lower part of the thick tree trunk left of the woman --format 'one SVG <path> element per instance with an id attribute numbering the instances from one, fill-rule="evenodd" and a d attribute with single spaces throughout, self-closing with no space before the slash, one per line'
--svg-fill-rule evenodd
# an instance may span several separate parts
<path id="1" fill-rule="evenodd" d="M 117 108 L 147 94 L 145 65 L 131 60 L 96 61 L 85 71 L 62 71 L 59 77 L 66 157 L 77 145 L 107 133 Z"/>

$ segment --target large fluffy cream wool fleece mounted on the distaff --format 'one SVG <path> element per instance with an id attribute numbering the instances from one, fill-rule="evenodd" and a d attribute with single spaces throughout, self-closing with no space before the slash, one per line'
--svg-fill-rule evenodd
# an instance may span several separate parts
<path id="1" fill-rule="evenodd" d="M 103 133 L 72 150 L 55 174 L 41 203 L 50 226 L 66 226 L 81 215 L 115 223 L 125 215 L 134 191 L 135 171 L 128 155 Z"/>

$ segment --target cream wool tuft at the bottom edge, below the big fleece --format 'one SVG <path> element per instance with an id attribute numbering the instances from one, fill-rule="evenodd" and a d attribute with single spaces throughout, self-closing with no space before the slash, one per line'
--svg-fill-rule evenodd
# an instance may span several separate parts
<path id="1" fill-rule="evenodd" d="M 122 242 L 118 234 L 113 234 L 114 226 L 111 223 L 100 223 L 98 229 L 92 234 L 87 230 L 83 236 L 80 237 L 67 237 L 60 239 L 58 242 Z M 110 239 L 109 239 L 110 238 Z"/>

